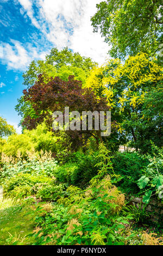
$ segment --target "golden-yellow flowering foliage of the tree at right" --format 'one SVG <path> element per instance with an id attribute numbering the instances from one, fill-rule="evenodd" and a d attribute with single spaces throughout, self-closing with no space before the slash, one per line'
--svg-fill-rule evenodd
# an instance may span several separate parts
<path id="1" fill-rule="evenodd" d="M 124 64 L 121 63 L 120 59 L 111 59 L 101 67 L 95 66 L 90 71 L 85 87 L 92 88 L 97 95 L 98 90 L 101 89 L 109 107 L 115 106 L 116 84 L 120 83 L 124 88 L 127 87 L 118 96 L 118 103 L 120 103 L 121 111 L 123 111 L 125 102 L 130 102 L 130 106 L 134 108 L 143 103 L 147 92 L 142 90 L 140 94 L 136 94 L 135 89 L 147 82 L 161 81 L 163 78 L 162 71 L 163 68 L 155 63 L 154 58 L 150 59 L 146 53 L 141 52 L 136 56 L 130 56 Z"/>

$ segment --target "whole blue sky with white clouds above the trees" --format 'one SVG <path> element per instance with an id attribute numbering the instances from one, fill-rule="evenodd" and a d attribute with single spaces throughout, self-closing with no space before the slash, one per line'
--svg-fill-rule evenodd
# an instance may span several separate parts
<path id="1" fill-rule="evenodd" d="M 17 127 L 15 111 L 22 95 L 22 74 L 33 59 L 44 59 L 52 47 L 68 46 L 103 63 L 109 50 L 93 33 L 90 17 L 99 0 L 0 1 L 0 115 Z"/>

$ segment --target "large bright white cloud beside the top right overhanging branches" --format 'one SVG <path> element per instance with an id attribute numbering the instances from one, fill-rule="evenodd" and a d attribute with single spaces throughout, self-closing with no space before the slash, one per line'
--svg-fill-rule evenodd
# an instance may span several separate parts
<path id="1" fill-rule="evenodd" d="M 101 0 L 39 0 L 40 15 L 49 26 L 47 39 L 52 41 L 59 50 L 68 45 L 86 57 L 103 63 L 108 45 L 100 34 L 93 33 L 90 18 L 96 13 L 96 4 Z M 41 19 L 42 20 L 42 19 Z M 73 33 L 70 34 L 70 30 Z"/>

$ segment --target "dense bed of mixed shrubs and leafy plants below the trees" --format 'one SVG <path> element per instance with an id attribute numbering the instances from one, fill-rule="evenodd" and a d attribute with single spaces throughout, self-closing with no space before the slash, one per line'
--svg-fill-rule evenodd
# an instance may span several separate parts
<path id="1" fill-rule="evenodd" d="M 161 150 L 157 154 L 162 154 Z M 160 172 L 158 179 L 161 179 L 162 162 L 159 157 L 142 157 L 135 152 L 111 156 L 103 143 L 99 144 L 96 153 L 73 153 L 65 163 L 58 163 L 47 152 L 28 153 L 25 158 L 2 154 L 3 196 L 5 200 L 12 199 L 16 205 L 1 210 L 1 214 L 10 216 L 12 210 L 8 223 L 12 225 L 14 221 L 16 227 L 12 231 L 10 227 L 3 230 L 6 220 L 1 218 L 1 243 L 161 244 L 162 227 L 151 222 L 152 214 L 145 209 L 147 204 L 143 210 L 141 207 L 137 209 L 127 206 L 125 199 L 128 194 L 139 195 L 145 196 L 146 202 L 149 190 L 157 193 L 156 186 L 151 188 L 152 182 L 141 184 L 143 176 L 151 179 L 149 171 L 156 180 L 155 164 Z M 142 189 L 145 186 L 146 190 Z M 21 229 L 26 226 L 24 236 L 20 235 L 19 226 Z M 154 230 L 156 234 L 149 235 Z"/>

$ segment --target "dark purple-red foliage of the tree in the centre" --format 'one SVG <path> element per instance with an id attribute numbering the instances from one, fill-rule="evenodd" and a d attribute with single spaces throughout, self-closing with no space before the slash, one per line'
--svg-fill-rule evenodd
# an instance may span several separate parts
<path id="1" fill-rule="evenodd" d="M 63 81 L 55 77 L 48 83 L 43 82 L 43 76 L 40 74 L 34 86 L 28 90 L 23 90 L 24 101 L 29 101 L 35 109 L 36 118 L 30 116 L 24 119 L 23 125 L 27 129 L 33 129 L 43 120 L 46 120 L 49 127 L 52 127 L 52 116 L 48 111 L 62 111 L 65 107 L 71 111 L 108 111 L 104 97 L 97 100 L 92 89 L 82 88 L 82 82 L 74 80 L 74 76 L 69 76 L 68 81 Z M 72 141 L 83 143 L 92 135 L 92 131 L 66 131 Z M 95 133 L 95 131 L 94 131 Z M 94 135 L 95 137 L 95 135 Z M 98 136 L 97 136 L 98 137 Z M 77 146 L 78 147 L 78 146 Z"/>

